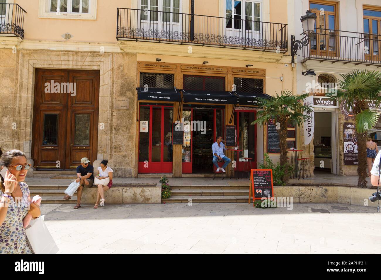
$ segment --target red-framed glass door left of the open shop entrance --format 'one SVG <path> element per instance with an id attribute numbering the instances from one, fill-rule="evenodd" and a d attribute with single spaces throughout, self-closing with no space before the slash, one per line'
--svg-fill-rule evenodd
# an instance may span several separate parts
<path id="1" fill-rule="evenodd" d="M 173 106 L 140 105 L 138 173 L 172 173 Z"/>

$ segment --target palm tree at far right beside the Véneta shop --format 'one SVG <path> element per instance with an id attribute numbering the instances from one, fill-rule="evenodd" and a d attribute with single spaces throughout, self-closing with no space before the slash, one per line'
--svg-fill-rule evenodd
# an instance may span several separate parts
<path id="1" fill-rule="evenodd" d="M 367 101 L 373 101 L 376 107 L 381 103 L 381 73 L 378 71 L 354 70 L 349 74 L 341 74 L 342 80 L 338 81 L 337 93 L 328 92 L 326 96 L 336 99 L 338 104 L 346 101 L 351 107 L 355 118 L 355 130 L 357 134 L 357 150 L 359 152 L 359 165 L 357 174 L 359 181 L 357 187 L 367 186 L 367 130 L 370 130 L 377 122 L 380 114 L 376 110 L 369 109 Z"/>

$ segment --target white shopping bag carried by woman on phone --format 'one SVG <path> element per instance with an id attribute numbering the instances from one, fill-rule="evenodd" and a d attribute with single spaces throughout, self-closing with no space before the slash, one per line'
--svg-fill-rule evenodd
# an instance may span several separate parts
<path id="1" fill-rule="evenodd" d="M 44 217 L 42 215 L 30 221 L 25 233 L 35 254 L 56 254 L 58 247 L 45 225 Z"/>

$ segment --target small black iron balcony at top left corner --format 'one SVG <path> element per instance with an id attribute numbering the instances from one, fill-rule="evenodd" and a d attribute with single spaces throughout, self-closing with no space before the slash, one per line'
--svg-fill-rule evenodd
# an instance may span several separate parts
<path id="1" fill-rule="evenodd" d="M 26 11 L 18 4 L 0 3 L 0 36 L 24 39 L 24 16 Z"/>

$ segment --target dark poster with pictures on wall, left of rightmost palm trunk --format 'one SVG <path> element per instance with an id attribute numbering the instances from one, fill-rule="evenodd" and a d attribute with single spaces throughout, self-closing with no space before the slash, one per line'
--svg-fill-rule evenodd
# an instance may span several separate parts
<path id="1" fill-rule="evenodd" d="M 354 123 L 344 123 L 344 165 L 359 164 Z"/>

